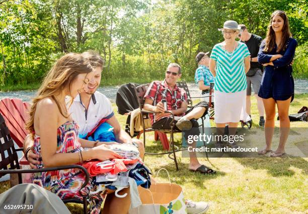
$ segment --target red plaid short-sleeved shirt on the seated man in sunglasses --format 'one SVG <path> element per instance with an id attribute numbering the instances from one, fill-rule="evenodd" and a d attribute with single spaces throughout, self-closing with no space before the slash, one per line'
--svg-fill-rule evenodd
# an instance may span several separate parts
<path id="1" fill-rule="evenodd" d="M 187 100 L 187 95 L 184 89 L 178 88 L 177 85 L 175 85 L 174 89 L 171 91 L 168 88 L 166 80 L 164 80 L 164 81 L 151 82 L 151 84 L 149 85 L 144 95 L 144 99 L 145 98 L 148 98 L 154 101 L 153 106 L 156 106 L 156 104 L 161 102 L 162 99 L 166 99 L 168 110 L 175 110 L 181 107 L 181 104 L 183 101 Z M 182 116 L 182 115 L 178 115 L 178 116 Z M 149 117 L 151 119 L 151 123 L 153 124 L 155 122 L 154 115 L 149 114 Z"/>

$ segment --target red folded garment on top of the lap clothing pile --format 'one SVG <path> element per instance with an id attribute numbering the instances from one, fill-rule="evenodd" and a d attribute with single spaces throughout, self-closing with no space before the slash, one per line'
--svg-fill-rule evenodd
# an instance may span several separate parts
<path id="1" fill-rule="evenodd" d="M 83 164 L 91 176 L 99 174 L 111 173 L 118 174 L 119 172 L 126 172 L 125 165 L 135 164 L 139 159 L 113 159 L 111 161 L 87 161 Z"/>

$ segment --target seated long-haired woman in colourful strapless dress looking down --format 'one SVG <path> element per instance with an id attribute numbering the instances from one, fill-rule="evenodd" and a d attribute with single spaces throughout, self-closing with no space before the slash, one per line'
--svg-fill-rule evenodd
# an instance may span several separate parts
<path id="1" fill-rule="evenodd" d="M 122 158 L 105 145 L 84 151 L 78 138 L 78 125 L 67 113 L 65 97 L 74 98 L 83 91 L 93 76 L 92 71 L 89 61 L 81 54 L 68 53 L 58 59 L 47 74 L 36 98 L 33 99 L 27 123 L 27 129 L 33 133 L 34 153 L 42 159 L 37 168 L 81 164 L 91 159 L 105 161 Z M 55 193 L 61 199 L 82 199 L 79 190 L 85 183 L 85 175 L 80 169 L 34 173 L 33 183 Z M 97 190 L 97 186 L 92 184 L 92 177 L 87 188 L 91 191 Z M 82 190 L 83 194 L 87 188 Z M 104 197 L 104 191 L 90 194 L 91 214 L 100 213 Z M 123 198 L 122 202 L 125 213 L 129 208 L 129 197 Z"/>

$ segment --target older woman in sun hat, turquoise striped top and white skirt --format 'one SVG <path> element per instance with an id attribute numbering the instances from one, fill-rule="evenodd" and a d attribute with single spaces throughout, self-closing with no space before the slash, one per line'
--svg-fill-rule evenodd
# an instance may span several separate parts
<path id="1" fill-rule="evenodd" d="M 215 77 L 215 123 L 218 129 L 229 124 L 229 134 L 235 134 L 240 120 L 250 120 L 245 110 L 250 53 L 246 44 L 236 41 L 240 30 L 237 22 L 226 21 L 219 30 L 224 41 L 213 47 L 209 62 Z"/>

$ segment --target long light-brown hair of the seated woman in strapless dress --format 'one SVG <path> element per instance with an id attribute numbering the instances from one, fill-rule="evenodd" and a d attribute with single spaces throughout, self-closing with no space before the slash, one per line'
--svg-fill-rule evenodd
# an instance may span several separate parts
<path id="1" fill-rule="evenodd" d="M 67 53 L 59 58 L 56 63 L 49 70 L 45 77 L 41 87 L 37 92 L 37 96 L 32 100 L 32 106 L 29 111 L 29 120 L 26 124 L 26 129 L 30 133 L 34 133 L 34 114 L 36 111 L 37 103 L 46 98 L 52 97 L 58 106 L 60 113 L 64 115 L 59 102 L 55 99 L 55 95 L 59 95 L 62 91 L 70 93 L 72 83 L 75 81 L 79 74 L 88 74 L 92 72 L 93 68 L 89 63 L 89 60 L 85 59 L 79 53 Z"/>

